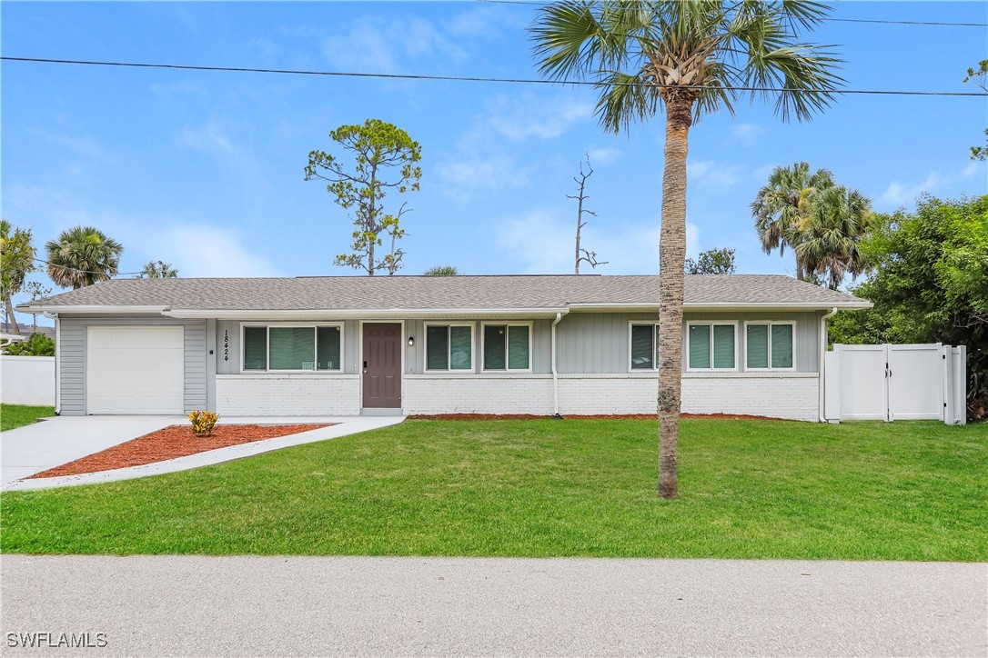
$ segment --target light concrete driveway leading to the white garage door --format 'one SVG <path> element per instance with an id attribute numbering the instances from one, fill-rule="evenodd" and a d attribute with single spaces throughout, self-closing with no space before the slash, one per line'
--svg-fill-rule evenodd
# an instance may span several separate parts
<path id="1" fill-rule="evenodd" d="M 185 416 L 54 416 L 0 434 L 0 487 L 168 425 Z"/>

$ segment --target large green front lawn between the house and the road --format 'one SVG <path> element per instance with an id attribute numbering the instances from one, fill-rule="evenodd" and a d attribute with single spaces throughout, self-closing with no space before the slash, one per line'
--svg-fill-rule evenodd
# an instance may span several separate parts
<path id="1" fill-rule="evenodd" d="M 197 471 L 5 493 L 38 553 L 988 559 L 988 425 L 411 420 Z"/>

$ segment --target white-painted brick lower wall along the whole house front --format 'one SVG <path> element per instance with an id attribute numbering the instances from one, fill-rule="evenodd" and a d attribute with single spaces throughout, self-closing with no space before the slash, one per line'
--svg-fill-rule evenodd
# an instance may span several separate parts
<path id="1" fill-rule="evenodd" d="M 687 373 L 686 413 L 740 413 L 816 420 L 815 374 Z M 405 375 L 405 413 L 552 413 L 550 375 Z M 654 375 L 560 375 L 563 415 L 655 413 Z M 357 415 L 359 375 L 217 375 L 221 415 Z"/>

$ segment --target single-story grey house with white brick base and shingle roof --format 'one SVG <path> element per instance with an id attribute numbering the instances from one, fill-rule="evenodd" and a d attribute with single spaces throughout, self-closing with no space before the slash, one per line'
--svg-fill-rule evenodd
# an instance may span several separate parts
<path id="1" fill-rule="evenodd" d="M 657 276 L 115 279 L 55 319 L 62 414 L 654 413 Z M 827 318 L 787 276 L 688 275 L 683 411 L 818 420 Z"/>

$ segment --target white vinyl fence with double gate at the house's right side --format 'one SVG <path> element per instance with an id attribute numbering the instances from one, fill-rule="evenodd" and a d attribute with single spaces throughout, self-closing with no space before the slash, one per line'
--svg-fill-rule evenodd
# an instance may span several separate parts
<path id="1" fill-rule="evenodd" d="M 966 422 L 963 345 L 836 344 L 824 367 L 827 420 Z"/>

